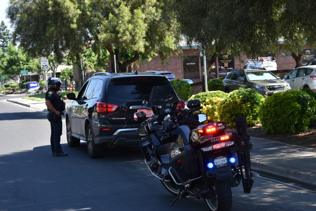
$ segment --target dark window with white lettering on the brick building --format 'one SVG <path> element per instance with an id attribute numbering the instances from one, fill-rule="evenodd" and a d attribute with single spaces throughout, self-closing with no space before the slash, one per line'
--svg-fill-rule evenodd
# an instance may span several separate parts
<path id="1" fill-rule="evenodd" d="M 200 79 L 198 55 L 183 59 L 183 75 L 184 79 Z"/>

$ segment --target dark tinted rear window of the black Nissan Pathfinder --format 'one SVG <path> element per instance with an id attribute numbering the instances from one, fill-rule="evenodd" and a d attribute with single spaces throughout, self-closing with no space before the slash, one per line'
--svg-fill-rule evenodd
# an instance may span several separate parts
<path id="1" fill-rule="evenodd" d="M 154 86 L 164 86 L 169 84 L 169 81 L 163 77 L 139 77 L 114 79 L 110 83 L 108 95 L 121 99 L 142 100 L 149 99 Z"/>

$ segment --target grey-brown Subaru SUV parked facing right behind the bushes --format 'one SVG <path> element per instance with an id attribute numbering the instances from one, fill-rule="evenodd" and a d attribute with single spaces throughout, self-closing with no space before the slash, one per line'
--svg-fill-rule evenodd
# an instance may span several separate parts
<path id="1" fill-rule="evenodd" d="M 223 91 L 231 92 L 239 88 L 257 90 L 264 97 L 291 89 L 290 84 L 262 69 L 233 69 L 223 80 Z"/>

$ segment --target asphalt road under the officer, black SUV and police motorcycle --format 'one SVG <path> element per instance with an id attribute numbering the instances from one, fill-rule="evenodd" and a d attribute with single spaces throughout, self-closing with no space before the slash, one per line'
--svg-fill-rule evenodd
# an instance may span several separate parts
<path id="1" fill-rule="evenodd" d="M 0 96 L 0 210 L 207 210 L 203 200 L 174 196 L 143 164 L 139 146 L 107 149 L 91 159 L 61 138 L 54 157 L 46 115 Z M 316 193 L 253 177 L 251 194 L 233 188 L 232 210 L 316 210 Z"/>

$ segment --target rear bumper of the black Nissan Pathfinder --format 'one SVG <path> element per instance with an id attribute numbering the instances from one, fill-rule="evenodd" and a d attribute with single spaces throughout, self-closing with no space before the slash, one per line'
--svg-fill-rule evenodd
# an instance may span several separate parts
<path id="1" fill-rule="evenodd" d="M 111 145 L 132 145 L 139 144 L 141 136 L 137 133 L 137 128 L 118 129 L 112 136 L 96 136 L 95 144 L 109 143 Z"/>

